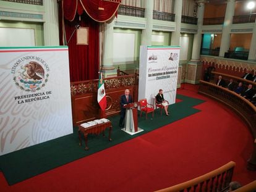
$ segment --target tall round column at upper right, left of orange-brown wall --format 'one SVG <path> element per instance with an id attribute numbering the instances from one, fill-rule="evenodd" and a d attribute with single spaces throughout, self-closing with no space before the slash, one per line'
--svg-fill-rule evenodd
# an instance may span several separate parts
<path id="1" fill-rule="evenodd" d="M 222 30 L 222 36 L 221 36 L 220 57 L 224 57 L 225 52 L 228 51 L 230 46 L 230 35 L 231 35 L 230 32 L 231 32 L 231 25 L 233 23 L 234 9 L 235 9 L 235 0 L 228 0 L 225 19 L 224 19 L 224 25 Z"/>

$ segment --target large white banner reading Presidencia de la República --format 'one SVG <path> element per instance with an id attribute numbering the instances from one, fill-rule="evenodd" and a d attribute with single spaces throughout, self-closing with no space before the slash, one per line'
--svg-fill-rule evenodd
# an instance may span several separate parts
<path id="1" fill-rule="evenodd" d="M 0 48 L 0 156 L 73 132 L 67 46 Z"/>

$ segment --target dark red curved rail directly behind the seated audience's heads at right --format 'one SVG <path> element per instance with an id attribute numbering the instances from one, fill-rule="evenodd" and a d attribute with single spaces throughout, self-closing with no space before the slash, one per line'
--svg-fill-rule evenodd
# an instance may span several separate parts
<path id="1" fill-rule="evenodd" d="M 247 89 L 249 84 L 252 84 L 252 88 L 256 89 L 256 83 L 253 81 L 245 80 L 244 78 L 241 78 L 241 77 L 236 77 L 233 75 L 228 75 L 228 74 L 219 73 L 219 72 L 211 72 L 210 82 L 215 84 L 220 75 L 221 75 L 222 79 L 224 81 L 226 81 L 227 85 L 228 85 L 228 81 L 232 78 L 236 85 L 238 85 L 239 82 L 242 82 L 242 86 L 243 86 L 244 90 Z"/>

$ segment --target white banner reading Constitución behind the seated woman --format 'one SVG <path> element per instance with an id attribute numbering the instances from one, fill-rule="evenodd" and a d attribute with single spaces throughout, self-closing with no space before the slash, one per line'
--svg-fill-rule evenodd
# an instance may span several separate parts
<path id="1" fill-rule="evenodd" d="M 154 104 L 162 89 L 164 99 L 175 103 L 179 51 L 177 46 L 140 46 L 139 99 Z"/>

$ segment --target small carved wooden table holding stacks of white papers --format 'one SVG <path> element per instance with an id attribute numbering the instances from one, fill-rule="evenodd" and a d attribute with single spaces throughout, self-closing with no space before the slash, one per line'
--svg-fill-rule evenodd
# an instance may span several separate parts
<path id="1" fill-rule="evenodd" d="M 105 129 L 109 127 L 109 133 L 108 133 L 108 140 L 109 141 L 112 141 L 111 140 L 111 131 L 112 131 L 112 123 L 111 121 L 109 122 L 106 122 L 106 123 L 100 123 L 100 124 L 97 124 L 97 125 L 93 125 L 91 127 L 87 127 L 87 128 L 84 128 L 82 127 L 81 125 L 79 125 L 79 130 L 78 130 L 78 133 L 79 133 L 79 145 L 82 146 L 82 139 L 81 139 L 81 133 L 83 134 L 84 138 L 85 138 L 85 150 L 88 150 L 88 146 L 87 146 L 87 141 L 88 141 L 88 134 L 96 134 L 96 135 L 99 135 L 100 133 L 103 133 L 103 136 L 105 136 Z"/>

